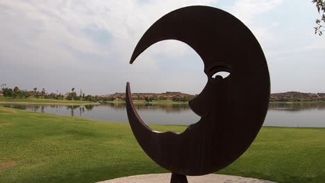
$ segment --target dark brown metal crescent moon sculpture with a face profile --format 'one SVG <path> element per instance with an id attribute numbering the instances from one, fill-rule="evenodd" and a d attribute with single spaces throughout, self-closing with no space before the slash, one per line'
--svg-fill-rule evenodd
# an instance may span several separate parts
<path id="1" fill-rule="evenodd" d="M 265 55 L 253 33 L 233 15 L 189 6 L 158 19 L 138 42 L 130 63 L 163 40 L 184 42 L 203 60 L 208 81 L 189 102 L 201 119 L 182 133 L 151 130 L 135 110 L 127 83 L 126 110 L 133 134 L 144 152 L 172 173 L 219 171 L 249 148 L 263 125 L 270 93 Z"/>

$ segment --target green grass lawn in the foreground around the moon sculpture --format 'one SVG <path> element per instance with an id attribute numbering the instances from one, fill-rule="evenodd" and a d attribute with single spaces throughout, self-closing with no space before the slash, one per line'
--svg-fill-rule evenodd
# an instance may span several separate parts
<path id="1" fill-rule="evenodd" d="M 127 123 L 0 107 L 0 182 L 98 182 L 165 172 L 138 146 Z M 263 128 L 249 150 L 218 173 L 325 182 L 325 128 Z"/>

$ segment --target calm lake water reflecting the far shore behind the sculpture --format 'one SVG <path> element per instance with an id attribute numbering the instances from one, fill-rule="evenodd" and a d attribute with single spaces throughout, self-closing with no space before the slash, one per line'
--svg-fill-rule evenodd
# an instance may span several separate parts
<path id="1" fill-rule="evenodd" d="M 128 122 L 125 103 L 101 105 L 16 105 L 2 104 L 34 112 L 80 116 L 101 121 Z M 136 104 L 141 118 L 148 124 L 190 125 L 199 121 L 188 104 Z M 265 126 L 325 127 L 325 103 L 270 103 Z"/>

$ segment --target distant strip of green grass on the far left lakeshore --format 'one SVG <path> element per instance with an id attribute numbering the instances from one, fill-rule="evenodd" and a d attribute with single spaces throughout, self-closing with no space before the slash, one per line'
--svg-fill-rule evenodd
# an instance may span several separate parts
<path id="1" fill-rule="evenodd" d="M 85 103 L 91 103 L 89 101 L 68 101 L 68 100 L 55 100 L 55 99 L 45 99 L 45 98 L 6 98 L 3 96 L 0 96 L 0 102 L 6 102 L 6 103 L 65 103 L 65 104 L 85 104 Z"/>

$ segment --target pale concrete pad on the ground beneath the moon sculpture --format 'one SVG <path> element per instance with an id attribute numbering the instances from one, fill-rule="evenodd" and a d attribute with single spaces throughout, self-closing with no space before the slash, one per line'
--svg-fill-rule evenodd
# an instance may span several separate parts
<path id="1" fill-rule="evenodd" d="M 106 180 L 100 183 L 169 183 L 171 180 L 171 173 L 134 175 L 130 177 L 121 177 L 113 180 Z M 258 180 L 254 178 L 238 177 L 232 175 L 208 174 L 202 176 L 186 176 L 189 183 L 274 183 L 268 180 Z"/>

